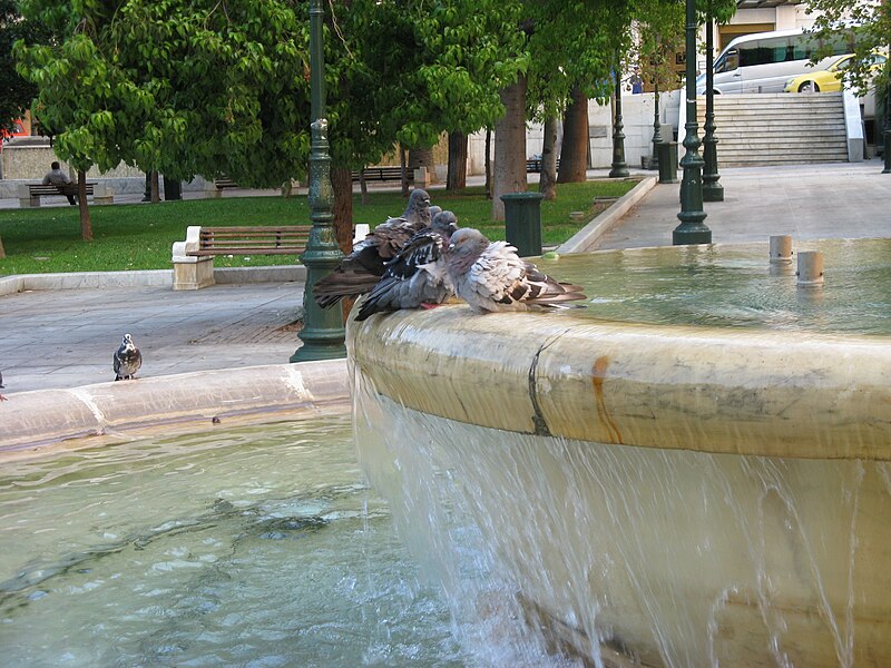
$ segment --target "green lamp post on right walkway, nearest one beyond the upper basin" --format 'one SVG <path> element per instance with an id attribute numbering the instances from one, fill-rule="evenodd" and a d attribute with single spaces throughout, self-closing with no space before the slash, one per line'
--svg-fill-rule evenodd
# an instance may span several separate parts
<path id="1" fill-rule="evenodd" d="M 687 244 L 711 244 L 712 230 L 703 223 L 703 159 L 698 149 L 702 143 L 697 134 L 696 121 L 696 1 L 687 2 L 686 58 L 687 58 L 687 122 L 684 124 L 686 136 L 684 148 L 687 153 L 681 160 L 684 177 L 681 180 L 681 213 L 677 218 L 681 225 L 672 233 L 675 246 Z"/>

